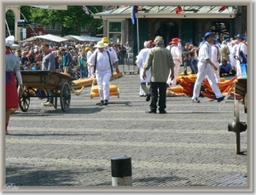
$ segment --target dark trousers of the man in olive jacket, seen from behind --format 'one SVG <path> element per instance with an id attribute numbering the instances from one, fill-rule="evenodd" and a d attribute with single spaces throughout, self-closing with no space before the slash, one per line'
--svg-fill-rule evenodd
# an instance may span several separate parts
<path id="1" fill-rule="evenodd" d="M 158 101 L 158 90 L 159 90 L 159 111 L 164 111 L 166 109 L 166 82 L 151 82 L 150 91 L 151 91 L 151 103 L 150 110 L 155 111 L 157 109 Z"/>

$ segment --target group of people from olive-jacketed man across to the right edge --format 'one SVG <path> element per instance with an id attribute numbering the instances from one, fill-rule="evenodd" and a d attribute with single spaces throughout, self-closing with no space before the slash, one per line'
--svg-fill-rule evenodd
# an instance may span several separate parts
<path id="1" fill-rule="evenodd" d="M 182 64 L 184 75 L 187 75 L 188 66 L 192 74 L 197 74 L 192 95 L 193 103 L 201 102 L 198 98 L 201 83 L 205 77 L 212 87 L 216 100 L 218 102 L 224 100 L 217 83 L 223 73 L 237 75 L 238 78 L 241 78 L 240 63 L 247 62 L 247 43 L 245 43 L 246 37 L 238 34 L 236 41 L 231 40 L 230 42 L 232 49 L 230 53 L 227 43 L 224 41 L 220 45 L 214 37 L 213 32 L 207 32 L 198 48 L 193 43 L 186 43 L 184 48 L 180 49 L 181 39 L 177 37 L 172 38 L 166 48 L 163 37 L 160 36 L 155 37 L 153 48 L 150 47 L 148 41 L 144 43 L 144 49 L 137 56 L 137 66 L 141 72 L 140 96 L 146 96 L 147 101 L 151 97 L 150 109 L 147 113 L 156 113 L 157 108 L 160 113 L 166 113 L 166 86 L 177 84 L 177 75 Z M 146 83 L 148 83 L 149 89 Z"/>

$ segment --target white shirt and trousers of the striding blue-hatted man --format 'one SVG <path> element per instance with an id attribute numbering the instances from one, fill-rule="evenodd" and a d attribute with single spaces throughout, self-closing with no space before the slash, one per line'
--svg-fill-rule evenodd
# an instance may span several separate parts
<path id="1" fill-rule="evenodd" d="M 222 94 L 218 88 L 218 84 L 216 83 L 214 74 L 212 72 L 212 67 L 210 64 L 207 63 L 207 59 L 212 59 L 212 47 L 209 43 L 202 43 L 201 48 L 199 49 L 198 54 L 198 72 L 197 78 L 195 80 L 195 86 L 193 91 L 192 100 L 198 98 L 201 91 L 201 83 L 203 79 L 207 76 L 207 80 L 210 83 L 212 90 L 216 96 L 216 98 L 222 97 Z"/>

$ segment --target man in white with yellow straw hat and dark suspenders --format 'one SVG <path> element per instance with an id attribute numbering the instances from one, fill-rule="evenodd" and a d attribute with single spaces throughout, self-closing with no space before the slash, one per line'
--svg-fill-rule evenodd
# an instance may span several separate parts
<path id="1" fill-rule="evenodd" d="M 87 60 L 89 66 L 95 66 L 94 69 L 101 98 L 100 106 L 107 106 L 108 100 L 110 99 L 109 79 L 112 74 L 112 65 L 115 66 L 116 72 L 119 73 L 119 60 L 112 52 L 105 49 L 107 46 L 108 44 L 102 41 L 98 42 L 96 46 L 94 46 L 97 49 Z"/>

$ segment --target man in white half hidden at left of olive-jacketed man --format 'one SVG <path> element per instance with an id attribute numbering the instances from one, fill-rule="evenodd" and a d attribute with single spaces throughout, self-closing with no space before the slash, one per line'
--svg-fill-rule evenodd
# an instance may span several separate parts
<path id="1" fill-rule="evenodd" d="M 146 72 L 146 78 L 145 80 L 143 79 L 143 66 L 145 64 L 145 61 L 147 59 L 148 56 L 148 51 L 150 50 L 150 43 L 148 41 L 144 42 L 144 49 L 142 49 L 139 54 L 137 55 L 137 66 L 140 69 L 140 95 L 142 95 L 143 93 L 146 95 L 146 100 L 150 100 L 150 92 L 149 89 L 146 85 L 146 83 L 150 83 L 150 77 L 151 77 L 151 73 L 150 70 L 148 70 Z M 141 91 L 141 89 L 143 89 L 143 93 Z"/>

